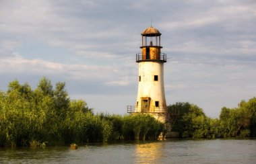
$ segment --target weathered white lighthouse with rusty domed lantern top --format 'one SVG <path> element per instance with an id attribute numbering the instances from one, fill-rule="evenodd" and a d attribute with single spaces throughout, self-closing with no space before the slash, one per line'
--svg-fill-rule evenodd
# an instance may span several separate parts
<path id="1" fill-rule="evenodd" d="M 136 54 L 139 64 L 138 91 L 135 106 L 127 106 L 128 113 L 148 113 L 160 122 L 167 117 L 164 94 L 164 63 L 161 52 L 161 33 L 150 26 L 141 33 L 141 53 Z"/>

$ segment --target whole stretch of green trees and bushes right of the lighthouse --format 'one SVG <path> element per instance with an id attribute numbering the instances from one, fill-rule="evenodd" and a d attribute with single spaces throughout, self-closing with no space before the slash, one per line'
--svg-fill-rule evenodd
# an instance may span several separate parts
<path id="1" fill-rule="evenodd" d="M 220 119 L 205 116 L 193 104 L 176 103 L 168 106 L 172 131 L 185 138 L 256 136 L 256 98 L 241 101 L 238 108 L 222 108 Z"/>

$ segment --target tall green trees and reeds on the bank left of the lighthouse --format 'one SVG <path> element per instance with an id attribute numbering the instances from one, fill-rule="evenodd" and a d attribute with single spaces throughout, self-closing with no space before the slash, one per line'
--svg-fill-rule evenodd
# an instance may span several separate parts
<path id="1" fill-rule="evenodd" d="M 156 139 L 162 127 L 149 115 L 94 115 L 85 101 L 69 99 L 65 83 L 53 87 L 46 77 L 34 91 L 17 80 L 0 91 L 0 147 Z"/>

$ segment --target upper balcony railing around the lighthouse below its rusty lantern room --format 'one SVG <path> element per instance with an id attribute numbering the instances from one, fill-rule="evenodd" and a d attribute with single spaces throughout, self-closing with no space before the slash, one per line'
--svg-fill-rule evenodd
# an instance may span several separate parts
<path id="1" fill-rule="evenodd" d="M 152 54 L 152 56 L 150 56 L 150 54 L 141 54 L 138 53 L 136 54 L 136 62 L 139 63 L 141 61 L 158 61 L 158 62 L 164 62 L 166 63 L 166 54 L 164 53 L 160 53 L 160 54 Z"/>

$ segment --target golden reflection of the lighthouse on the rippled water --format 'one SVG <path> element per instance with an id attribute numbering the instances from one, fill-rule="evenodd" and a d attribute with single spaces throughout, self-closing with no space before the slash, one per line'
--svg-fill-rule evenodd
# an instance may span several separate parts
<path id="1" fill-rule="evenodd" d="M 164 157 L 164 142 L 137 144 L 135 147 L 136 163 L 156 163 Z"/>

